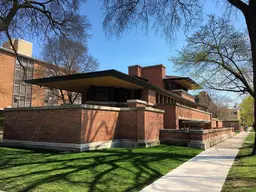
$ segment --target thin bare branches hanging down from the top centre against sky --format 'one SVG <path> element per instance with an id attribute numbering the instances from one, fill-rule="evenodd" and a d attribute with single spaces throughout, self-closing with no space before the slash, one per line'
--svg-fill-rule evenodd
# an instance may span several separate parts
<path id="1" fill-rule="evenodd" d="M 103 26 L 108 34 L 122 35 L 126 29 L 153 27 L 174 37 L 177 28 L 188 29 L 201 20 L 203 3 L 200 0 L 104 0 Z"/>

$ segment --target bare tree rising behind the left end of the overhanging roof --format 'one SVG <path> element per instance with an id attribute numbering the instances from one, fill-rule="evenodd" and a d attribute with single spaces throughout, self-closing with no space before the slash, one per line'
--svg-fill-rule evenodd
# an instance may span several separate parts
<path id="1" fill-rule="evenodd" d="M 51 38 L 43 48 L 43 58 L 52 63 L 47 69 L 47 76 L 72 75 L 76 73 L 92 72 L 98 69 L 98 61 L 88 55 L 88 49 L 80 42 L 65 38 Z M 63 103 L 73 104 L 79 93 L 60 90 Z"/>

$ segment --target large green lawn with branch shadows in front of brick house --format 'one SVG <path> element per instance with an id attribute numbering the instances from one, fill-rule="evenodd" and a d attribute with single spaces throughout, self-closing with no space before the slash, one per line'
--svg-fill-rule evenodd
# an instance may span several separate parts
<path id="1" fill-rule="evenodd" d="M 138 191 L 201 151 L 167 145 L 83 153 L 0 147 L 0 189 Z"/>

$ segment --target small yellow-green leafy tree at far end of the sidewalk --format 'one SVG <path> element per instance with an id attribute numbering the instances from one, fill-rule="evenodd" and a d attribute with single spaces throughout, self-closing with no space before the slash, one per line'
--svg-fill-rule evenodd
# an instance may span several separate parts
<path id="1" fill-rule="evenodd" d="M 252 96 L 247 96 L 243 99 L 240 108 L 240 116 L 243 120 L 243 123 L 248 126 L 252 126 L 254 123 L 254 107 L 253 107 L 254 99 Z"/>

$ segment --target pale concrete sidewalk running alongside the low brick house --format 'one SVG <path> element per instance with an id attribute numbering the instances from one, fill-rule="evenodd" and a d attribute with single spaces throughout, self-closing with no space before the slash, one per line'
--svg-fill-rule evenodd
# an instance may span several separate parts
<path id="1" fill-rule="evenodd" d="M 141 192 L 221 191 L 229 169 L 247 135 L 247 132 L 239 133 L 203 151 Z"/>

